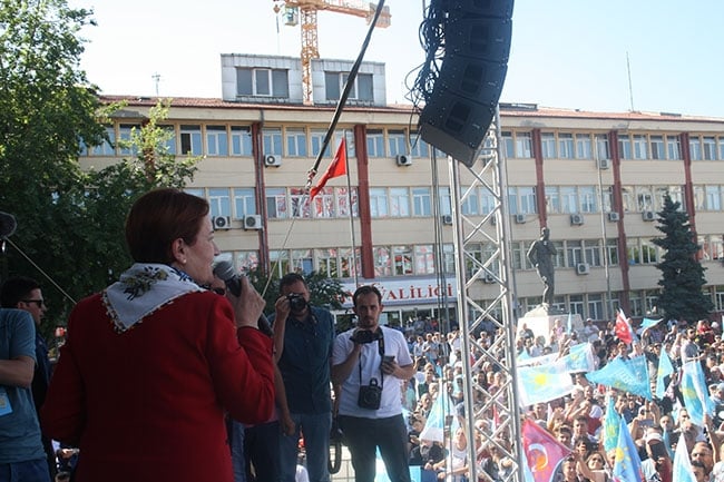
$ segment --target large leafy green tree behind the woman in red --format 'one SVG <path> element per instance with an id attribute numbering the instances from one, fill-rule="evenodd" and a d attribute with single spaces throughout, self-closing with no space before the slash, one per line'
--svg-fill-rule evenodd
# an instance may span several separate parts
<path id="1" fill-rule="evenodd" d="M 125 216 L 157 186 L 183 187 L 197 159 L 176 160 L 157 122 L 159 105 L 126 146 L 136 157 L 84 171 L 81 147 L 100 145 L 120 106 L 105 106 L 79 69 L 92 11 L 66 0 L 0 0 L 0 210 L 17 233 L 0 275 L 37 278 L 49 299 L 48 333 L 74 301 L 105 287 L 129 264 Z"/>

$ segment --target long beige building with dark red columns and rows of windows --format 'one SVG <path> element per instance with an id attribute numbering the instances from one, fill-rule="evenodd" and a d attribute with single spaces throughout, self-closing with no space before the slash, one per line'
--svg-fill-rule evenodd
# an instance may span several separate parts
<path id="1" fill-rule="evenodd" d="M 417 135 L 412 106 L 387 104 L 384 65 L 362 63 L 312 185 L 343 137 L 349 176 L 329 180 L 310 200 L 309 171 L 353 62 L 313 61 L 313 105 L 302 102 L 297 58 L 222 55 L 221 63 L 222 98 L 174 98 L 164 124 L 174 132 L 172 153 L 204 156 L 187 190 L 209 200 L 223 256 L 239 269 L 262 264 L 277 276 L 317 270 L 351 291 L 374 283 L 393 325 L 442 318 L 446 309 L 454 317 L 449 161 Z M 127 104 L 107 127 L 111 142 L 82 153 L 86 168 L 129 157 L 115 140 L 127 139 L 158 102 L 102 100 Z M 652 239 L 662 235 L 656 213 L 665 194 L 688 213 L 707 268 L 705 291 L 724 312 L 724 119 L 529 104 L 499 110 L 517 315 L 541 302 L 526 253 L 542 226 L 557 247 L 557 307 L 584 319 L 613 319 L 619 307 L 650 315 L 662 259 Z M 461 190 L 469 176 L 463 168 Z M 461 210 L 483 219 L 492 205 L 492 193 L 476 187 Z M 472 256 L 485 259 L 493 248 L 480 243 Z M 493 279 L 476 283 L 469 296 L 486 306 L 499 288 Z"/>

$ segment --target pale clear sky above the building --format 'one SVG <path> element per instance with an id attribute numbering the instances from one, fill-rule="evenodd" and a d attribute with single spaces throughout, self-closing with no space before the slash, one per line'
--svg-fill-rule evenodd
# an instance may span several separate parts
<path id="1" fill-rule="evenodd" d="M 221 98 L 221 53 L 300 56 L 300 27 L 277 22 L 272 0 L 69 3 L 95 11 L 81 67 L 107 95 Z M 424 59 L 423 1 L 385 4 L 392 26 L 375 30 L 365 60 L 385 62 L 388 101 L 405 102 Z M 356 58 L 364 19 L 317 20 L 321 57 Z M 723 0 L 516 0 L 500 100 L 626 111 L 633 95 L 635 110 L 724 118 L 723 20 Z"/>

